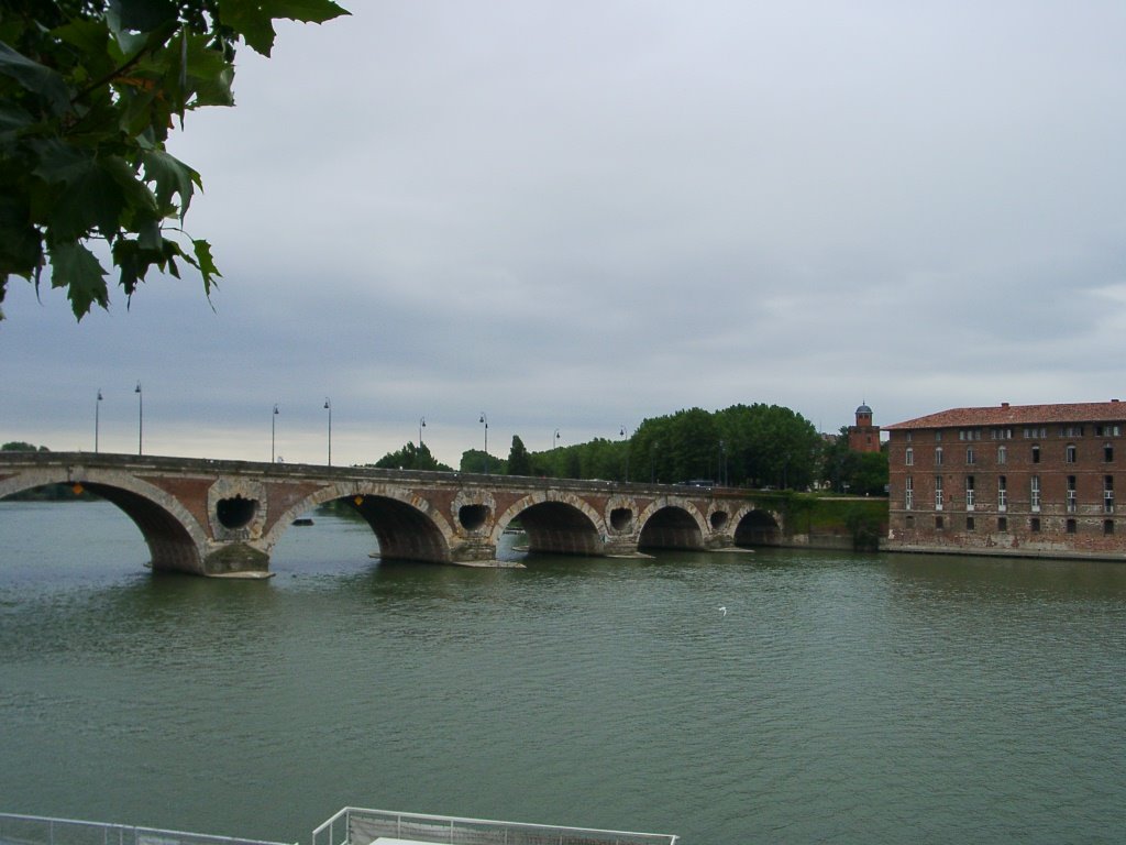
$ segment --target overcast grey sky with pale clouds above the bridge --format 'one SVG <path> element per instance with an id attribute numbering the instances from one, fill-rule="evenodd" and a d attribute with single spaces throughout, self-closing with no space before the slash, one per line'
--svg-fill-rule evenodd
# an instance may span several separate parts
<path id="1" fill-rule="evenodd" d="M 343 0 L 188 116 L 223 279 L 12 281 L 0 441 L 456 465 L 1126 399 L 1126 3 Z M 189 268 L 190 269 L 190 268 Z M 277 403 L 279 413 L 271 413 Z"/>

